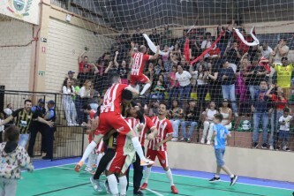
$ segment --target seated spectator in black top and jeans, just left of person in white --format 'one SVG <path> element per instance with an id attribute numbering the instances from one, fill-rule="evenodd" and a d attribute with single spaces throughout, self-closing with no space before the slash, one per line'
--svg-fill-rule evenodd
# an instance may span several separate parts
<path id="1" fill-rule="evenodd" d="M 189 102 L 189 106 L 185 109 L 185 120 L 181 122 L 183 138 L 181 141 L 191 142 L 192 132 L 195 130 L 199 119 L 199 110 L 196 108 L 195 100 Z M 186 133 L 186 126 L 190 126 L 188 134 Z"/>

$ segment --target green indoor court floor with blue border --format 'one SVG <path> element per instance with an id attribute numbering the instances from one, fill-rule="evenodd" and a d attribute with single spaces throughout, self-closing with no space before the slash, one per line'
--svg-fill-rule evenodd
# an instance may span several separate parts
<path id="1" fill-rule="evenodd" d="M 81 171 L 79 174 L 73 172 L 74 163 L 77 160 L 35 161 L 36 170 L 33 175 L 23 173 L 24 180 L 19 181 L 17 195 L 108 195 L 105 191 L 94 192 L 89 181 L 90 174 L 87 172 Z M 237 185 L 230 187 L 229 177 L 222 176 L 223 181 L 209 184 L 208 179 L 213 175 L 211 173 L 190 170 L 173 170 L 173 173 L 178 195 L 185 196 L 290 196 L 293 188 L 290 183 L 250 177 L 240 177 Z M 132 170 L 130 175 L 132 181 Z M 105 177 L 103 176 L 102 179 Z M 161 168 L 153 168 L 148 182 L 148 189 L 144 191 L 145 195 L 173 195 L 170 193 L 169 182 Z M 34 187 L 34 189 L 27 187 Z M 127 195 L 129 194 L 132 195 L 132 184 L 127 192 Z"/>

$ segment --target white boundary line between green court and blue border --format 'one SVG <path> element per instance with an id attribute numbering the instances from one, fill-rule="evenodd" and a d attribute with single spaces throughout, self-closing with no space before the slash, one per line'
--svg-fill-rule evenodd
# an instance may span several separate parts
<path id="1" fill-rule="evenodd" d="M 73 165 L 73 164 L 75 164 L 75 163 L 60 164 L 60 165 L 56 165 L 56 166 L 49 166 L 49 167 L 39 168 L 39 169 L 35 169 L 35 170 L 44 170 L 44 169 L 50 169 L 50 168 L 58 168 L 60 166 Z M 68 169 L 68 168 L 66 168 L 66 169 Z M 133 169 L 131 169 L 131 170 L 133 170 Z M 72 170 L 72 171 L 74 171 L 74 170 Z M 26 170 L 24 170 L 22 172 L 26 172 Z M 162 174 L 162 175 L 164 175 L 164 173 L 158 172 L 158 171 L 151 171 L 151 172 L 152 173 L 155 173 L 155 174 Z M 209 179 L 209 178 L 205 178 L 205 177 L 191 177 L 191 176 L 186 176 L 186 175 L 181 175 L 181 174 L 173 174 L 173 175 L 174 176 L 178 176 L 178 177 L 190 177 L 190 178 L 205 179 L 205 180 L 208 180 Z M 222 182 L 229 183 L 229 181 L 227 181 L 227 180 L 221 180 L 220 182 L 221 183 Z M 253 185 L 253 184 L 239 183 L 239 182 L 237 184 L 240 184 L 240 185 L 251 185 L 251 186 L 258 186 L 258 187 L 265 187 L 265 188 L 275 188 L 275 189 L 293 191 L 292 189 L 288 189 L 288 188 L 268 186 L 268 185 Z"/>

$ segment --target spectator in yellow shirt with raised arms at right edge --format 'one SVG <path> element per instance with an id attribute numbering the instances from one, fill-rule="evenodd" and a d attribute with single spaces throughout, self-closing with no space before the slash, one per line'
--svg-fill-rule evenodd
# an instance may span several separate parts
<path id="1" fill-rule="evenodd" d="M 287 57 L 282 58 L 282 65 L 272 64 L 277 75 L 277 87 L 283 88 L 283 94 L 287 100 L 290 100 L 291 78 L 294 65 L 288 62 Z"/>

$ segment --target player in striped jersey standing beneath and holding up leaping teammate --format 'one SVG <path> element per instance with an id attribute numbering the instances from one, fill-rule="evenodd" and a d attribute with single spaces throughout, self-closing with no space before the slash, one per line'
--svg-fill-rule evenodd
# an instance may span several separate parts
<path id="1" fill-rule="evenodd" d="M 142 129 L 142 124 L 139 124 L 137 117 L 137 110 L 132 105 L 126 109 L 128 117 L 125 121 L 130 124 L 133 130 Z M 132 164 L 135 158 L 136 152 L 132 145 L 132 140 L 126 137 L 124 134 L 118 133 L 117 136 L 117 152 L 115 157 L 109 162 L 107 167 L 106 176 L 109 181 L 109 189 L 112 195 L 118 195 L 117 188 L 117 174 L 119 180 L 119 195 L 126 195 L 127 178 L 125 177 L 126 171 Z"/>

